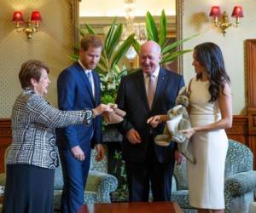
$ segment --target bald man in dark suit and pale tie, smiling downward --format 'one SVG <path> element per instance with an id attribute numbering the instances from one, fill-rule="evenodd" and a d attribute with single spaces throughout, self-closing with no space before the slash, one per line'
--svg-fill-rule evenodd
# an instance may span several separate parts
<path id="1" fill-rule="evenodd" d="M 160 67 L 160 46 L 153 41 L 143 43 L 139 55 L 141 69 L 121 79 L 117 104 L 126 116 L 118 124 L 124 135 L 123 155 L 130 201 L 148 201 L 151 186 L 154 201 L 171 199 L 172 173 L 175 159 L 183 158 L 175 143 L 169 147 L 154 144 L 165 124 L 151 128 L 148 118 L 166 114 L 174 107 L 183 77 Z"/>

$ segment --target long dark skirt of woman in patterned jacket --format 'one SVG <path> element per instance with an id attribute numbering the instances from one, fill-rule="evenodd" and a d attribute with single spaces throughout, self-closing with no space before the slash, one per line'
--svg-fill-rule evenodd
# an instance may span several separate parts
<path id="1" fill-rule="evenodd" d="M 55 170 L 8 164 L 3 213 L 52 213 Z"/>

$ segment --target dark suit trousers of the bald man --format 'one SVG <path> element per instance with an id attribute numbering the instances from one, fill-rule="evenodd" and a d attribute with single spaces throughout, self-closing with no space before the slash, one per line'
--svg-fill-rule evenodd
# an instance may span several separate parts
<path id="1" fill-rule="evenodd" d="M 125 160 L 129 199 L 131 202 L 148 201 L 151 187 L 154 201 L 170 201 L 174 160 L 160 163 L 156 158 L 153 139 L 144 162 Z"/>

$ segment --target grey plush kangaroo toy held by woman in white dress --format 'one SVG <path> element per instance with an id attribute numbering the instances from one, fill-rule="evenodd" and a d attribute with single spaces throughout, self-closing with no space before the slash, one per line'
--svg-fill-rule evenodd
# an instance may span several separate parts
<path id="1" fill-rule="evenodd" d="M 188 151 L 189 139 L 180 132 L 180 130 L 187 130 L 191 128 L 189 113 L 186 107 L 189 106 L 189 97 L 185 87 L 180 89 L 179 94 L 175 100 L 175 107 L 167 112 L 169 120 L 166 121 L 166 127 L 162 135 L 157 135 L 154 142 L 159 146 L 165 147 L 171 141 L 177 142 L 177 149 L 179 152 L 195 164 L 195 158 Z"/>

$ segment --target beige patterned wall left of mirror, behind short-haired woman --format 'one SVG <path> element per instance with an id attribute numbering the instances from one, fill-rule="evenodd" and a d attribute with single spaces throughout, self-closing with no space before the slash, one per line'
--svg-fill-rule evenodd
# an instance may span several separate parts
<path id="1" fill-rule="evenodd" d="M 70 0 L 0 1 L 0 118 L 10 118 L 15 98 L 20 94 L 18 72 L 23 61 L 43 60 L 50 69 L 48 100 L 56 105 L 56 78 L 72 63 L 72 6 Z M 40 32 L 28 41 L 25 33 L 15 32 L 12 14 L 21 10 L 28 19 L 33 9 L 42 15 Z"/>

